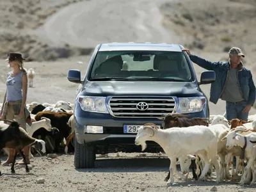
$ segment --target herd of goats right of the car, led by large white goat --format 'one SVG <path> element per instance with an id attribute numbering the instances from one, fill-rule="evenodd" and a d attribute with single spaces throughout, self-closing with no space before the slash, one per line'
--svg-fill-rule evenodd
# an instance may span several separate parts
<path id="1" fill-rule="evenodd" d="M 168 114 L 163 118 L 164 129 L 158 129 L 157 125 L 148 123 L 141 126 L 136 135 L 135 145 L 141 145 L 142 151 L 147 148 L 145 141 L 155 141 L 170 159 L 170 172 L 164 179 L 167 184 L 174 183 L 174 173 L 187 180 L 192 163 L 193 178 L 196 180 L 198 177 L 199 180 L 206 180 L 213 167 L 217 183 L 229 179 L 231 165 L 231 176 L 241 177 L 239 184 L 254 185 L 256 115 L 248 117 L 250 122 L 239 119 L 228 121 L 223 115 L 212 115 L 210 121 L 205 118 L 187 117 Z M 181 173 L 176 168 L 177 159 Z"/>

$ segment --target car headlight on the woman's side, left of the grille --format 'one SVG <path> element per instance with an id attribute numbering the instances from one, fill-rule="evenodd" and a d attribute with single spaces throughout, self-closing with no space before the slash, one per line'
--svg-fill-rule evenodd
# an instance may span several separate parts
<path id="1" fill-rule="evenodd" d="M 106 97 L 80 96 L 78 101 L 84 111 L 108 113 Z"/>

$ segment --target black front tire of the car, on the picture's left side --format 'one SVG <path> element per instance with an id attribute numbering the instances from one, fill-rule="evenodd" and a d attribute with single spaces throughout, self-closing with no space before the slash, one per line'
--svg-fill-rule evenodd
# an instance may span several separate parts
<path id="1" fill-rule="evenodd" d="M 93 168 L 95 161 L 94 147 L 88 145 L 81 145 L 75 138 L 75 154 L 74 166 L 75 168 Z"/>

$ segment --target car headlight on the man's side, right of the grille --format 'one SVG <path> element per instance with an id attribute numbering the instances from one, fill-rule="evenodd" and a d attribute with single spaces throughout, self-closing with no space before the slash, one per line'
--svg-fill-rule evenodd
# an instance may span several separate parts
<path id="1" fill-rule="evenodd" d="M 177 113 L 193 113 L 202 111 L 205 102 L 205 97 L 180 97 Z"/>

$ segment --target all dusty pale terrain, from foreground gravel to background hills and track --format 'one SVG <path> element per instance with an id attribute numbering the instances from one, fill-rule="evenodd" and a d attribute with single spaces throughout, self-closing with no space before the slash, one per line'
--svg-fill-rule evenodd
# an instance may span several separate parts
<path id="1" fill-rule="evenodd" d="M 246 54 L 244 65 L 252 70 L 255 79 L 256 1 L 164 2 L 1 0 L 0 56 L 4 60 L 7 52 L 19 51 L 29 58 L 25 67 L 35 68 L 36 77 L 33 88 L 28 89 L 28 102 L 73 102 L 78 84 L 67 80 L 68 69 L 80 69 L 83 77 L 90 55 L 79 55 L 88 54 L 100 42 L 179 43 L 211 61 L 227 60 L 225 47 L 237 46 Z M 23 8 L 23 11 L 13 11 L 13 4 L 15 9 Z M 43 17 L 38 16 L 42 14 Z M 2 100 L 10 70 L 3 60 L 0 61 Z M 199 79 L 204 69 L 195 64 L 194 67 Z M 202 90 L 209 97 L 210 85 L 203 85 Z M 225 111 L 222 100 L 209 106 L 211 114 Z M 256 109 L 250 111 L 255 113 Z M 98 157 L 92 170 L 76 170 L 74 156 L 61 154 L 52 160 L 35 157 L 30 173 L 18 166 L 12 175 L 10 167 L 0 166 L 3 173 L 0 191 L 210 191 L 212 186 L 217 186 L 218 191 L 255 191 L 239 186 L 237 180 L 218 185 L 214 180 L 196 183 L 191 179 L 177 180 L 176 185 L 167 188 L 163 179 L 170 161 L 159 154 L 153 157 L 147 154 L 147 158 L 140 154 Z M 2 161 L 5 159 L 1 157 Z M 44 184 L 36 184 L 38 178 L 45 179 Z"/>

